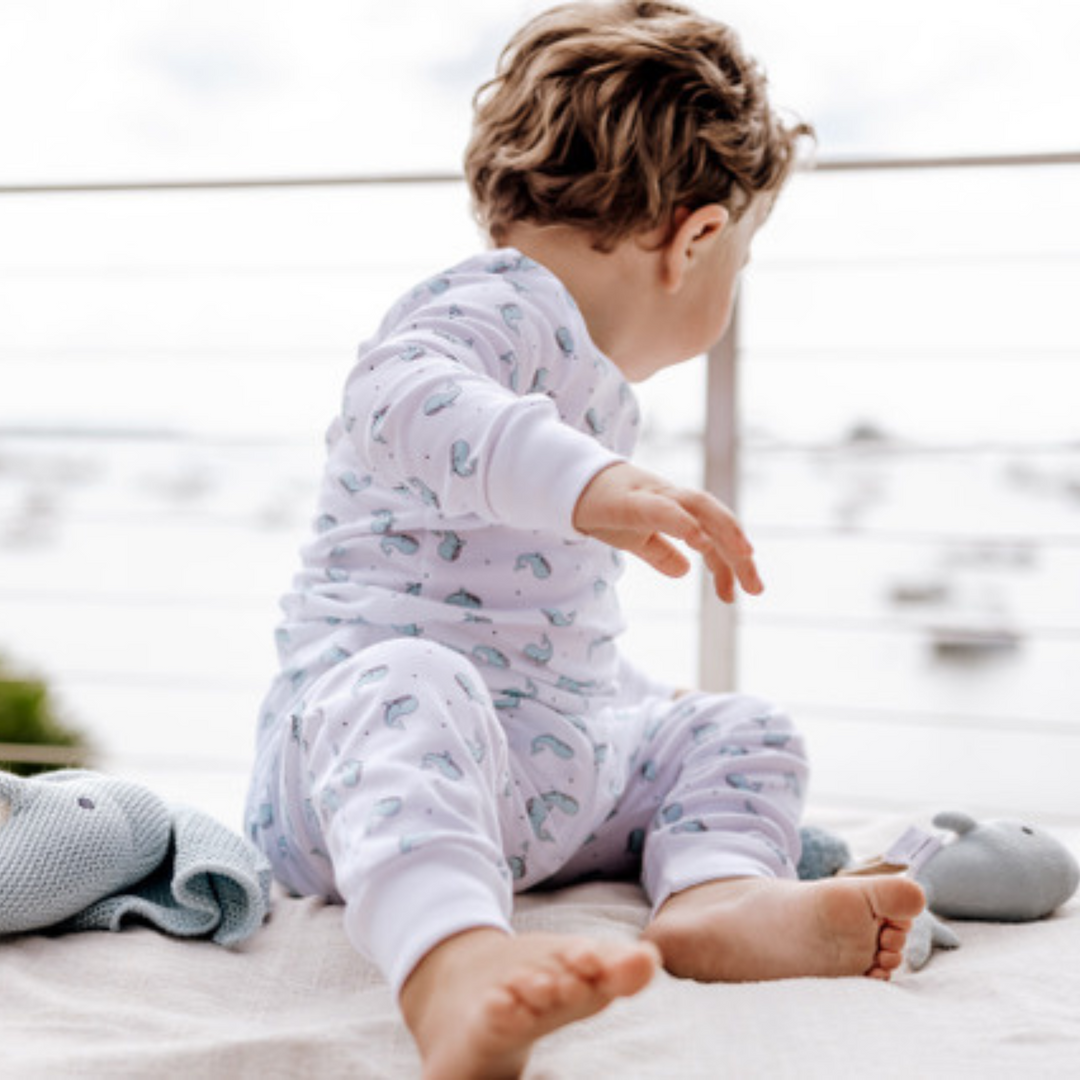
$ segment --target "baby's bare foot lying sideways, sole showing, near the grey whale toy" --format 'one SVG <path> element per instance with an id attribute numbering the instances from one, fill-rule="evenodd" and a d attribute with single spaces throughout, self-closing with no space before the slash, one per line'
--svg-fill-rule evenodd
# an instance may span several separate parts
<path id="1" fill-rule="evenodd" d="M 672 974 L 702 982 L 889 978 L 924 903 L 903 877 L 710 881 L 673 895 L 645 937 Z"/>

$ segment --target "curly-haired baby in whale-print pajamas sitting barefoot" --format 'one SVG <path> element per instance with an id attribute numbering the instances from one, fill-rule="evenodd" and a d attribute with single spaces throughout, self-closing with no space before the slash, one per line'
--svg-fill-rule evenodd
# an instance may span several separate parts
<path id="1" fill-rule="evenodd" d="M 360 350 L 283 602 L 249 834 L 346 905 L 428 1080 L 518 1076 L 640 990 L 888 978 L 904 878 L 796 879 L 802 742 L 773 705 L 681 693 L 619 653 L 622 553 L 761 591 L 712 496 L 630 463 L 632 383 L 724 334 L 805 125 L 727 27 L 571 3 L 510 42 L 465 164 L 494 247 Z M 678 541 L 679 543 L 676 543 Z M 635 878 L 642 941 L 515 934 L 515 891 Z"/>

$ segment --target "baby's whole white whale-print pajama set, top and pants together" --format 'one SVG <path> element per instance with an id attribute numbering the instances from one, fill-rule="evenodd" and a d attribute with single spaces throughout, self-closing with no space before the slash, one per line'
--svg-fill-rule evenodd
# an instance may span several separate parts
<path id="1" fill-rule="evenodd" d="M 347 379 L 246 825 L 395 990 L 540 882 L 639 877 L 659 905 L 795 876 L 789 720 L 622 659 L 621 555 L 571 523 L 637 426 L 568 292 L 510 248 L 405 296 Z"/>

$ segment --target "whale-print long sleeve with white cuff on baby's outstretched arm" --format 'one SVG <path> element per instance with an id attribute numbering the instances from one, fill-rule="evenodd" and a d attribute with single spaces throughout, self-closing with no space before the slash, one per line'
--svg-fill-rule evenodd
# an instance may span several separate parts
<path id="1" fill-rule="evenodd" d="M 447 517 L 580 536 L 578 497 L 621 458 L 541 388 L 553 365 L 586 361 L 567 357 L 554 330 L 545 340 L 524 299 L 451 310 L 421 313 L 354 369 L 343 422 L 361 465 Z"/>

